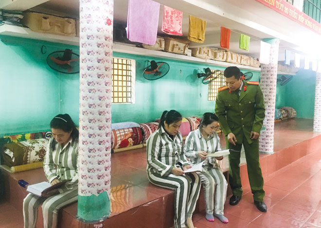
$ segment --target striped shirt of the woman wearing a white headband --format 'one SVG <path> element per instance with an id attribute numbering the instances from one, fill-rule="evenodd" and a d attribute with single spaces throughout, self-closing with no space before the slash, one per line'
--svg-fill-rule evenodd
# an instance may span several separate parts
<path id="1" fill-rule="evenodd" d="M 63 148 L 61 144 L 56 143 L 54 150 L 51 147 L 53 140 L 54 137 L 49 140 L 43 161 L 43 169 L 49 183 L 57 178 L 60 181 L 70 180 L 69 184 L 76 184 L 78 182 L 78 140 L 70 139 Z"/>

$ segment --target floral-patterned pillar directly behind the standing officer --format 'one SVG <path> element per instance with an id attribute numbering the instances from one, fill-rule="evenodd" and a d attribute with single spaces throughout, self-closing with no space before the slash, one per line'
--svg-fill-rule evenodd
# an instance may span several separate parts
<path id="1" fill-rule="evenodd" d="M 260 152 L 273 153 L 276 77 L 280 40 L 277 38 L 267 38 L 263 39 L 263 41 L 271 44 L 271 51 L 270 64 L 261 64 L 260 85 L 264 94 L 266 111 L 260 135 L 259 149 Z"/>

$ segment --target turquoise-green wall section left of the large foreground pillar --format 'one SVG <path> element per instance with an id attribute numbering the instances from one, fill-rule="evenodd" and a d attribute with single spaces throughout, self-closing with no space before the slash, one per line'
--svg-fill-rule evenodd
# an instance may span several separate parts
<path id="1" fill-rule="evenodd" d="M 58 113 L 69 113 L 78 123 L 79 74 L 49 68 L 49 53 L 78 47 L 1 36 L 0 136 L 50 129 Z M 47 53 L 41 53 L 42 45 Z"/>

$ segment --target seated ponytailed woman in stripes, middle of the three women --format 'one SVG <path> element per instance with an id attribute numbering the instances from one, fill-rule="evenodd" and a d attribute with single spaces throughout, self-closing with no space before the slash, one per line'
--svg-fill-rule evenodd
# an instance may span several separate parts
<path id="1" fill-rule="evenodd" d="M 178 131 L 182 116 L 175 110 L 164 111 L 158 130 L 147 140 L 147 177 L 157 186 L 175 191 L 174 227 L 194 228 L 192 214 L 200 190 L 196 173 L 184 155 L 182 135 Z"/>

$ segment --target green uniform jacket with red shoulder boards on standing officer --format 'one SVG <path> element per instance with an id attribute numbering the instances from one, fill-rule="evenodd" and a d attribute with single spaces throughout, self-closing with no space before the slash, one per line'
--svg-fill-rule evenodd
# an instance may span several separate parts
<path id="1" fill-rule="evenodd" d="M 237 143 L 242 143 L 243 136 L 252 143 L 251 131 L 260 133 L 265 117 L 264 96 L 258 83 L 243 82 L 240 96 L 227 87 L 219 88 L 215 101 L 215 114 L 227 136 L 233 133 Z M 246 89 L 244 88 L 246 86 Z"/>

